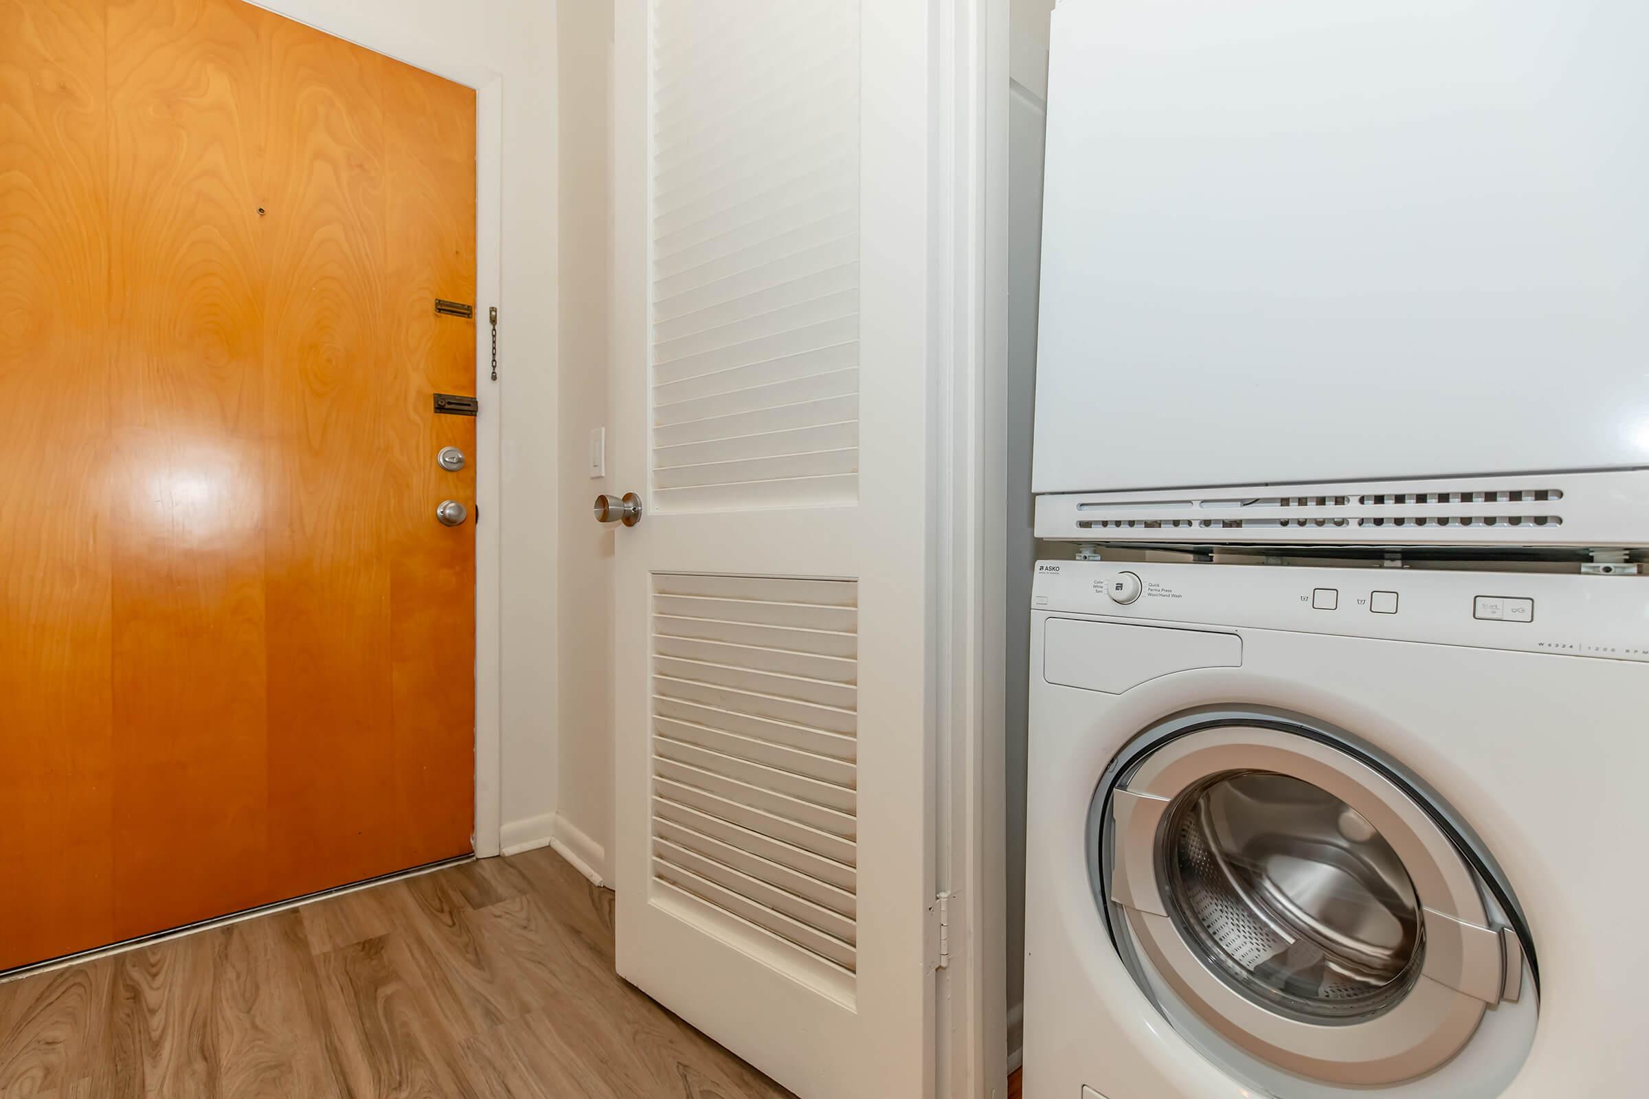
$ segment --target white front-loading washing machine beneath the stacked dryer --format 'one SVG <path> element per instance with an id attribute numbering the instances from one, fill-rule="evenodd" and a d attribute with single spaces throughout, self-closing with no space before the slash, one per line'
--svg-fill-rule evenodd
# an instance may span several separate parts
<path id="1" fill-rule="evenodd" d="M 1646 1094 L 1649 578 L 1032 600 L 1027 1099 Z"/>

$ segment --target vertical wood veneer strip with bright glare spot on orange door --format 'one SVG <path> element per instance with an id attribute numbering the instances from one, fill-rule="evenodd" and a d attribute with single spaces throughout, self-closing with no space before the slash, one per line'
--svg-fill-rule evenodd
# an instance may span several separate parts
<path id="1" fill-rule="evenodd" d="M 115 939 L 269 900 L 262 23 L 109 5 Z"/>

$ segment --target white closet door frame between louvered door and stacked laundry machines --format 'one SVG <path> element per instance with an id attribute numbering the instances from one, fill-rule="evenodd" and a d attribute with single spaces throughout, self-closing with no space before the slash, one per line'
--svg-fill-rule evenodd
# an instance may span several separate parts
<path id="1" fill-rule="evenodd" d="M 1008 615 L 1008 0 L 940 7 L 942 117 L 935 186 L 948 232 L 935 257 L 948 302 L 937 339 L 953 362 L 937 395 L 940 539 L 940 970 L 938 1094 L 1008 1089 L 1006 615 Z"/>

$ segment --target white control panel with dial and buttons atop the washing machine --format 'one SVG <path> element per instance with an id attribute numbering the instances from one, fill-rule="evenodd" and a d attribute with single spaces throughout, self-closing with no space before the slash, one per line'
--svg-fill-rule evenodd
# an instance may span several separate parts
<path id="1" fill-rule="evenodd" d="M 1060 560 L 1032 610 L 1649 661 L 1649 577 Z"/>

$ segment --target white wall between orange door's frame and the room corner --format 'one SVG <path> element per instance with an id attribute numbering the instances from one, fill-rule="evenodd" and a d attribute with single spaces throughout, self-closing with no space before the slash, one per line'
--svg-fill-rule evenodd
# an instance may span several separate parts
<path id="1" fill-rule="evenodd" d="M 498 386 L 482 381 L 478 392 L 483 415 L 501 412 L 496 488 L 508 511 L 480 521 L 501 521 L 505 596 L 500 667 L 478 669 L 477 685 L 498 684 L 508 845 L 554 814 L 557 793 L 556 3 L 264 0 L 261 7 L 470 86 L 501 77 L 501 362 Z M 483 241 L 477 244 L 485 250 Z M 477 305 L 485 316 L 488 303 Z M 480 568 L 488 572 L 485 562 Z"/>

